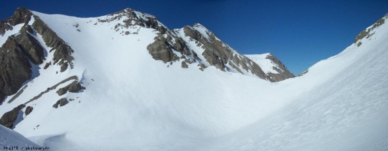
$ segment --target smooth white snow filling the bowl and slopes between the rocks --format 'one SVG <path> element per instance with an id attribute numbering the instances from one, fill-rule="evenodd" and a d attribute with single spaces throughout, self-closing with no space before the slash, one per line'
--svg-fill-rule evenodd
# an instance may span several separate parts
<path id="1" fill-rule="evenodd" d="M 33 67 L 15 101 L 6 103 L 9 96 L 0 105 L 0 115 L 73 75 L 86 87 L 58 96 L 69 81 L 26 104 L 33 111 L 14 130 L 38 145 L 55 151 L 388 150 L 387 23 L 360 47 L 352 44 L 301 77 L 270 83 L 212 66 L 200 71 L 197 63 L 167 67 L 146 50 L 157 35 L 153 29 L 123 29 L 138 34 L 122 35 L 112 29 L 120 20 L 94 25 L 98 17 L 33 14 L 71 46 L 74 68 L 43 69 L 54 52 L 45 47 L 46 61 Z M 74 101 L 52 107 L 64 97 Z"/>

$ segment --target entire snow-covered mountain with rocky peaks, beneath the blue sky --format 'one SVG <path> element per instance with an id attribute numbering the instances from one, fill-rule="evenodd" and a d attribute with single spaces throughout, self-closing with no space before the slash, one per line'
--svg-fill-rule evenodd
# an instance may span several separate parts
<path id="1" fill-rule="evenodd" d="M 0 22 L 0 123 L 55 151 L 384 151 L 387 17 L 291 78 L 198 23 L 18 8 Z"/>

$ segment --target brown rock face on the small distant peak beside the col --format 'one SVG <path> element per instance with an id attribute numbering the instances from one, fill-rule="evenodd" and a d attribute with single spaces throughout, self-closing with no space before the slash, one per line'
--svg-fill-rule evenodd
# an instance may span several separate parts
<path id="1" fill-rule="evenodd" d="M 283 81 L 288 78 L 295 77 L 280 60 L 278 60 L 275 55 L 271 54 L 267 55 L 265 57 L 266 59 L 270 59 L 273 63 L 275 63 L 279 68 L 273 67 L 274 70 L 276 70 L 278 73 L 268 73 L 268 75 L 273 79 L 275 82 Z"/>

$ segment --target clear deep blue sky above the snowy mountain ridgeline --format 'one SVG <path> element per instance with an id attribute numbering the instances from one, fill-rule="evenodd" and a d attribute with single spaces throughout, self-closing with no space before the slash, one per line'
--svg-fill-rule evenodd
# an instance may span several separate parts
<path id="1" fill-rule="evenodd" d="M 243 54 L 274 53 L 297 75 L 352 44 L 388 0 L 1 0 L 0 19 L 17 7 L 77 17 L 129 7 L 170 29 L 199 22 Z"/>

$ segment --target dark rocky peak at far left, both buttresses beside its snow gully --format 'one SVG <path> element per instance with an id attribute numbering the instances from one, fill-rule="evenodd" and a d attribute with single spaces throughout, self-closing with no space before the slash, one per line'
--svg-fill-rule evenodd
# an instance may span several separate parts
<path id="1" fill-rule="evenodd" d="M 35 20 L 32 27 L 28 25 L 31 17 Z M 55 50 L 53 61 L 54 64 L 61 66 L 61 72 L 69 66 L 73 67 L 71 54 L 74 50 L 27 9 L 18 8 L 12 17 L 0 21 L 0 34 L 13 30 L 12 26 L 17 24 L 24 24 L 20 34 L 9 36 L 0 48 L 0 102 L 5 96 L 15 94 L 21 84 L 31 78 L 32 66 L 29 61 L 39 65 L 45 60 L 45 50 L 41 46 L 43 44 L 40 44 L 31 34 L 41 34 L 46 45 Z"/>

